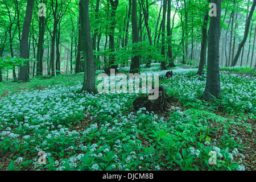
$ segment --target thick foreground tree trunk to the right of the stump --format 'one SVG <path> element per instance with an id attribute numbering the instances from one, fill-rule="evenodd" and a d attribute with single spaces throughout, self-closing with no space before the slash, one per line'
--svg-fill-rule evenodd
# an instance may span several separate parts
<path id="1" fill-rule="evenodd" d="M 217 16 L 210 17 L 207 82 L 203 94 L 204 100 L 212 100 L 213 97 L 220 98 L 220 22 L 221 22 L 221 0 L 212 0 L 217 6 Z"/>

